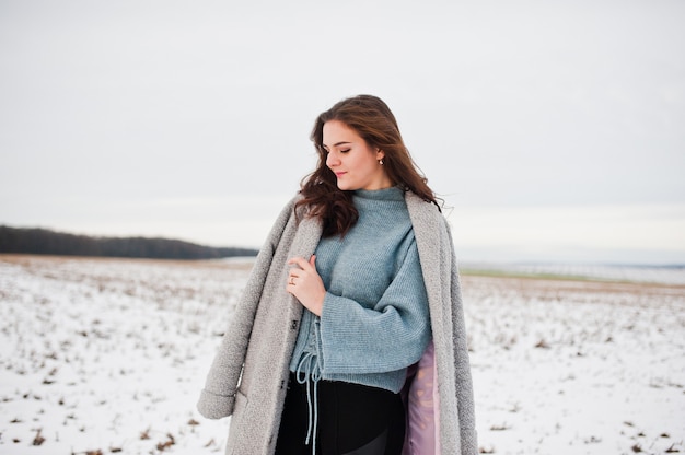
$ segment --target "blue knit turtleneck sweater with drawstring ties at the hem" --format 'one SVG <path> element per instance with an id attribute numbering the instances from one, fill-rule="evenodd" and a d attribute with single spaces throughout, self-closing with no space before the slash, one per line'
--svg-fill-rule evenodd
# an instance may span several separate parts
<path id="1" fill-rule="evenodd" d="M 358 190 L 357 224 L 323 238 L 321 318 L 304 310 L 290 370 L 397 393 L 430 341 L 428 298 L 404 191 Z"/>

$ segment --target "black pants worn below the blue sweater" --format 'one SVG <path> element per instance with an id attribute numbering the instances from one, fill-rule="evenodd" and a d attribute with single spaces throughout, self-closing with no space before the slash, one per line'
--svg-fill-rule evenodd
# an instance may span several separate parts
<path id="1" fill-rule="evenodd" d="M 313 386 L 310 384 L 311 390 Z M 337 381 L 317 384 L 317 455 L 399 455 L 405 411 L 398 394 Z M 281 417 L 277 455 L 312 455 L 306 385 L 291 374 Z"/>

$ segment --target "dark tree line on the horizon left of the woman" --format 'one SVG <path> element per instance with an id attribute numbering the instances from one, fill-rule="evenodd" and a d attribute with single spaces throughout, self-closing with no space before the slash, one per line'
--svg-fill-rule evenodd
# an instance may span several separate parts
<path id="1" fill-rule="evenodd" d="M 204 246 L 173 238 L 98 237 L 43 228 L 0 225 L 0 253 L 146 259 L 220 259 L 256 256 L 258 250 Z"/>

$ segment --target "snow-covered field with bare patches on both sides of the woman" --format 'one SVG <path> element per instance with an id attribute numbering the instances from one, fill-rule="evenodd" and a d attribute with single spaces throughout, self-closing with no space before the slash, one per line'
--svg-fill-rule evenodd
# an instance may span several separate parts
<path id="1" fill-rule="evenodd" d="M 222 453 L 195 402 L 249 267 L 0 255 L 0 454 Z M 680 273 L 464 276 L 480 451 L 685 452 Z"/>

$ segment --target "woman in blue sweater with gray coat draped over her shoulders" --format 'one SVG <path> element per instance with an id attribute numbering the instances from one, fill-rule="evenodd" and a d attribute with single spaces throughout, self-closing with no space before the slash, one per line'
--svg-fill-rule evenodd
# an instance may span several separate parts
<path id="1" fill-rule="evenodd" d="M 360 95 L 311 138 L 198 409 L 228 454 L 477 453 L 454 248 L 395 117 Z"/>

